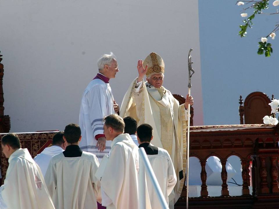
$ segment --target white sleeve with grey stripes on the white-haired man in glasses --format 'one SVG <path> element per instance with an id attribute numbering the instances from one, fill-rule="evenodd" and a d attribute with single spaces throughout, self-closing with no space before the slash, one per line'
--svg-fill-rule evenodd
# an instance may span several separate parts
<path id="1" fill-rule="evenodd" d="M 107 107 L 105 102 L 106 91 L 103 86 L 96 85 L 90 89 L 87 93 L 89 118 L 91 122 L 91 128 L 93 136 L 104 133 L 104 121 L 103 119 L 107 115 Z"/>

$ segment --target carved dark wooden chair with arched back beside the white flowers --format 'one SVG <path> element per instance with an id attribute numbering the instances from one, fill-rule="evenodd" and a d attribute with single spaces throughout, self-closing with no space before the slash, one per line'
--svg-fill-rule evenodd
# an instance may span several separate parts
<path id="1" fill-rule="evenodd" d="M 272 95 L 273 98 L 274 96 Z M 271 100 L 265 93 L 260 91 L 250 93 L 244 100 L 244 106 L 242 106 L 242 101 L 242 96 L 240 95 L 240 124 L 263 124 L 262 118 L 266 115 L 271 115 L 271 107 L 268 105 Z"/>

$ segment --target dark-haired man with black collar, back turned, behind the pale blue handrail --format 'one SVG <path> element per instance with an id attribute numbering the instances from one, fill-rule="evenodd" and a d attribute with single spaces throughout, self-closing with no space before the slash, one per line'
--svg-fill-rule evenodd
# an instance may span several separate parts
<path id="1" fill-rule="evenodd" d="M 162 193 L 167 204 L 169 204 L 169 195 L 174 189 L 177 181 L 171 157 L 167 150 L 150 144 L 153 139 L 153 128 L 151 125 L 144 123 L 137 127 L 137 139 L 140 144 L 139 147 L 143 147 L 146 152 Z M 146 180 L 151 208 L 158 208 L 158 206 L 160 206 L 158 196 L 150 178 L 146 177 Z"/>

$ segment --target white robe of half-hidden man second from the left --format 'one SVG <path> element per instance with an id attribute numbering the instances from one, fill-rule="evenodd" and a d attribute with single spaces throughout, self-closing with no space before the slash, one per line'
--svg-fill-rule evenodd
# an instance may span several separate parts
<path id="1" fill-rule="evenodd" d="M 59 146 L 53 145 L 51 147 L 46 147 L 40 154 L 37 154 L 36 157 L 34 157 L 34 161 L 39 165 L 42 174 L 45 176 L 47 172 L 47 167 L 49 166 L 50 159 L 61 152 L 63 152 L 64 149 L 62 149 Z"/>

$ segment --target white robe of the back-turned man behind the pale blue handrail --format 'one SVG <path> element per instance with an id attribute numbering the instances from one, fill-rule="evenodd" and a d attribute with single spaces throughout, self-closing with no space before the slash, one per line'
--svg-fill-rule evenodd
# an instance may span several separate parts
<path id="1" fill-rule="evenodd" d="M 163 195 L 167 201 L 167 204 L 169 204 L 169 195 L 174 189 L 174 186 L 176 185 L 177 181 L 171 157 L 169 156 L 167 150 L 161 149 L 160 147 L 158 147 L 158 154 L 147 154 L 147 157 L 158 180 Z M 159 208 L 160 201 L 154 190 L 152 182 L 150 181 L 150 178 L 148 178 L 147 176 L 146 180 L 151 208 Z"/>

